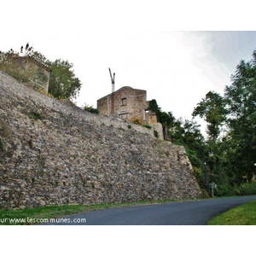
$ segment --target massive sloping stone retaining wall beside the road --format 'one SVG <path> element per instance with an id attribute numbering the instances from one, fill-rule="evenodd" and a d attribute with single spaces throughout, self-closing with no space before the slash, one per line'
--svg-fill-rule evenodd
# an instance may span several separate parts
<path id="1" fill-rule="evenodd" d="M 0 208 L 198 198 L 181 146 L 0 71 Z"/>

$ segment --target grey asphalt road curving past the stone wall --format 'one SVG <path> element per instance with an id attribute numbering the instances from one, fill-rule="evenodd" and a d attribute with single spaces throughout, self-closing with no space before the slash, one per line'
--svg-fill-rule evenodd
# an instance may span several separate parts
<path id="1" fill-rule="evenodd" d="M 256 201 L 256 195 L 84 212 L 55 219 L 54 225 L 205 225 L 247 201 Z"/>

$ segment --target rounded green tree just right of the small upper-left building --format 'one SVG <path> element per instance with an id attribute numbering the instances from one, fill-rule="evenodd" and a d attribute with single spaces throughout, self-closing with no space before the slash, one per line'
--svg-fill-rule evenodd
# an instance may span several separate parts
<path id="1" fill-rule="evenodd" d="M 57 99 L 72 99 L 79 95 L 82 83 L 76 78 L 73 64 L 68 61 L 48 61 L 52 70 L 49 76 L 49 93 Z"/>

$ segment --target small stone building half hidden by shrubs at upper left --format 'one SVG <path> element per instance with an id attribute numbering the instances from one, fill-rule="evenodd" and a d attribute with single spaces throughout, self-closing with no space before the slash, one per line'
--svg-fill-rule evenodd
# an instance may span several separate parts
<path id="1" fill-rule="evenodd" d="M 26 84 L 31 85 L 37 89 L 43 89 L 48 92 L 49 88 L 49 73 L 51 69 L 46 67 L 39 61 L 29 56 L 13 57 L 14 68 L 21 74 L 24 74 L 28 78 Z"/>

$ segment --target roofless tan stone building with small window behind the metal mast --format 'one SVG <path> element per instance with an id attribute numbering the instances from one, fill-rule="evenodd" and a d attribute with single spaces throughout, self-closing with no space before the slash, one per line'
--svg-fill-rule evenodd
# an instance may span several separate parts
<path id="1" fill-rule="evenodd" d="M 97 101 L 100 114 L 110 115 L 112 94 L 104 96 Z M 157 123 L 156 114 L 148 109 L 147 91 L 133 89 L 125 86 L 114 92 L 114 112 L 119 119 L 140 124 L 154 125 Z"/>

